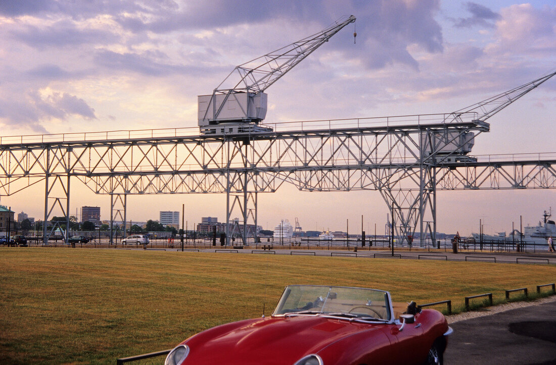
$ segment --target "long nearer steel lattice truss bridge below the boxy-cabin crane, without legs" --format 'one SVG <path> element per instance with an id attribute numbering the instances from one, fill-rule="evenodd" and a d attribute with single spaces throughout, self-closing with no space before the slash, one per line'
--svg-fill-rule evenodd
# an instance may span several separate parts
<path id="1" fill-rule="evenodd" d="M 435 134 L 446 144 L 454 133 L 487 130 L 476 122 L 423 123 L 241 137 L 3 144 L 0 193 L 11 195 L 47 176 L 75 176 L 101 194 L 244 192 L 245 174 L 247 192 L 274 192 L 285 181 L 315 191 L 381 189 L 414 179 L 413 168 L 441 162 L 434 154 L 421 156 L 423 136 Z"/>

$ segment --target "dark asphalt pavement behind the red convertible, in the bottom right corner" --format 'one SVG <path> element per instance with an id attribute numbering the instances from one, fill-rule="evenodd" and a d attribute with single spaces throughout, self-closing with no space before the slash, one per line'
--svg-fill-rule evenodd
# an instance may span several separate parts
<path id="1" fill-rule="evenodd" d="M 556 302 L 450 324 L 451 364 L 556 364 Z"/>

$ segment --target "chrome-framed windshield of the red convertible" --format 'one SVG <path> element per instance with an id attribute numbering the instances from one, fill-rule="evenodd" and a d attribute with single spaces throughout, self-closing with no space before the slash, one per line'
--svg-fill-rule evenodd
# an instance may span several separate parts
<path id="1" fill-rule="evenodd" d="M 290 285 L 272 313 L 330 315 L 359 319 L 391 319 L 390 294 L 365 288 Z"/>

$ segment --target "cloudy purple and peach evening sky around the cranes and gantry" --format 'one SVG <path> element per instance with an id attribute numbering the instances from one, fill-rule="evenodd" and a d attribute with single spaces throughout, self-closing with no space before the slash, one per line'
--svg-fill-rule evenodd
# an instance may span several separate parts
<path id="1" fill-rule="evenodd" d="M 554 0 L 2 0 L 0 135 L 197 126 L 197 96 L 238 64 L 357 17 L 266 93 L 266 122 L 443 113 L 556 71 Z M 357 32 L 354 44 L 353 32 Z M 556 78 L 490 118 L 471 154 L 554 152 Z M 110 197 L 72 185 L 70 213 Z M 42 219 L 44 187 L 0 204 Z M 225 194 L 130 196 L 128 219 L 186 206 L 188 224 L 225 218 Z M 556 192 L 437 193 L 438 231 L 536 224 Z M 148 207 L 146 209 L 145 207 Z M 384 232 L 379 192 L 259 194 L 259 224 Z M 556 216 L 556 214 L 555 214 Z"/>

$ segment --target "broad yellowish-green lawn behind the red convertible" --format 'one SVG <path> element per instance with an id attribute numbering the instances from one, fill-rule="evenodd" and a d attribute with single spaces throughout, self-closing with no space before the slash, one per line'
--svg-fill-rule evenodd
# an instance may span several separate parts
<path id="1" fill-rule="evenodd" d="M 0 363 L 113 364 L 203 329 L 269 315 L 287 284 L 428 303 L 554 282 L 547 265 L 267 254 L 0 248 Z M 439 308 L 440 309 L 440 308 Z M 161 358 L 158 359 L 162 361 Z"/>

